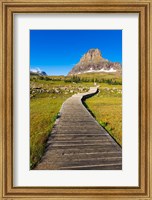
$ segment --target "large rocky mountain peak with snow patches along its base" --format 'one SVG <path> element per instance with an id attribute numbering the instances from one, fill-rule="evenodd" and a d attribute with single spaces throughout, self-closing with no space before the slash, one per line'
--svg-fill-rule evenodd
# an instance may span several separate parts
<path id="1" fill-rule="evenodd" d="M 118 62 L 111 62 L 102 57 L 99 49 L 90 49 L 80 59 L 68 75 L 76 75 L 91 72 L 121 72 L 122 67 Z"/>

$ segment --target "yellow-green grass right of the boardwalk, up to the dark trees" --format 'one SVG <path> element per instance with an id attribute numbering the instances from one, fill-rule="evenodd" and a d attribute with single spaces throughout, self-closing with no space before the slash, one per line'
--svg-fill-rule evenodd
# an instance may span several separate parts
<path id="1" fill-rule="evenodd" d="M 100 85 L 100 93 L 86 100 L 96 120 L 122 145 L 122 94 L 121 86 Z"/>

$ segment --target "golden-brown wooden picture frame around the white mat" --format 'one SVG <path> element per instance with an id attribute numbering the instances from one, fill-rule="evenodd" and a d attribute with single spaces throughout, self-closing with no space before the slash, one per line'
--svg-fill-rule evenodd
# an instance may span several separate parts
<path id="1" fill-rule="evenodd" d="M 0 197 L 7 199 L 152 199 L 151 0 L 0 0 Z M 14 13 L 139 14 L 139 187 L 13 187 Z M 150 174 L 151 172 L 151 174 Z"/>

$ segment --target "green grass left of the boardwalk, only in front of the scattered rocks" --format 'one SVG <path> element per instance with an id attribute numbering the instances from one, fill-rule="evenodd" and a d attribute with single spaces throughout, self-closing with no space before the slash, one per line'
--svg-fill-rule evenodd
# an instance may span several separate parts
<path id="1" fill-rule="evenodd" d="M 69 95 L 68 95 L 69 96 Z M 42 157 L 46 140 L 51 132 L 62 103 L 68 98 L 63 95 L 39 95 L 30 102 L 30 167 Z"/>

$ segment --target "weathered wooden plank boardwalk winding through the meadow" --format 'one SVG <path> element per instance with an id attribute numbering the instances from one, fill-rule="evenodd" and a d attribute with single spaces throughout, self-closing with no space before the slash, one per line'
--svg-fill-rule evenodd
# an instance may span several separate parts
<path id="1" fill-rule="evenodd" d="M 121 147 L 82 104 L 82 98 L 95 93 L 93 87 L 64 102 L 36 170 L 122 169 Z"/>

